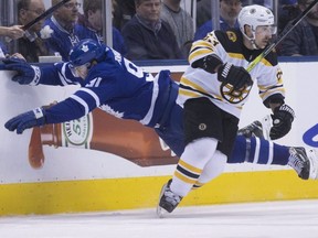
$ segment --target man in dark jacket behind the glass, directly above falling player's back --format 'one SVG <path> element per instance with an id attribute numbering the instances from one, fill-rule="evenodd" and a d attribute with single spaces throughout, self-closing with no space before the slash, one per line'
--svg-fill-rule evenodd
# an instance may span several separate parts
<path id="1" fill-rule="evenodd" d="M 160 19 L 161 0 L 135 0 L 136 14 L 121 30 L 129 60 L 184 58 L 170 25 Z"/>

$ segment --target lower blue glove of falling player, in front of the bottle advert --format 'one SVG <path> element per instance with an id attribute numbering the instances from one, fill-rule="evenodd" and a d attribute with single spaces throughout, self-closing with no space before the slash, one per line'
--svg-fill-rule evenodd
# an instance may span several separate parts
<path id="1" fill-rule="evenodd" d="M 45 109 L 35 108 L 34 110 L 26 111 L 10 119 L 6 122 L 4 127 L 9 131 L 17 130 L 17 133 L 21 134 L 28 128 L 40 127 L 43 125 L 45 125 Z"/>

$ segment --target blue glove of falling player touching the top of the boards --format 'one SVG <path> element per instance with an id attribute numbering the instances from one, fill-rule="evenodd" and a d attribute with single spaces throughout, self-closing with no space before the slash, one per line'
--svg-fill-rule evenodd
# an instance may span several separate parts
<path id="1" fill-rule="evenodd" d="M 38 66 L 28 64 L 24 60 L 17 57 L 3 58 L 4 66 L 1 69 L 15 71 L 18 74 L 12 77 L 13 82 L 21 85 L 39 84 L 41 71 Z"/>

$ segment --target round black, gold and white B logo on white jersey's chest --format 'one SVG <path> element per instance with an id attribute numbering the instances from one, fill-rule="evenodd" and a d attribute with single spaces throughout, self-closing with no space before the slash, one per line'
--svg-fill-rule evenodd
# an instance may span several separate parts
<path id="1" fill-rule="evenodd" d="M 220 91 L 222 97 L 230 104 L 240 104 L 248 96 L 251 88 L 252 85 L 235 90 L 231 84 L 222 84 Z"/>

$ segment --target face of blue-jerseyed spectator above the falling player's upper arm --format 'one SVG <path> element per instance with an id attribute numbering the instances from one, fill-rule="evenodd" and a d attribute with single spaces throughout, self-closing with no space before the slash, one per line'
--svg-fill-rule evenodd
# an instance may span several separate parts
<path id="1" fill-rule="evenodd" d="M 81 4 L 76 0 L 71 0 L 57 9 L 53 14 L 63 24 L 72 24 L 77 21 L 80 7 Z"/>

